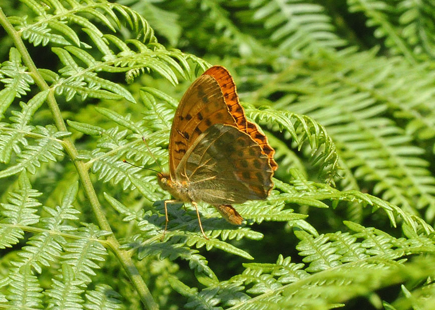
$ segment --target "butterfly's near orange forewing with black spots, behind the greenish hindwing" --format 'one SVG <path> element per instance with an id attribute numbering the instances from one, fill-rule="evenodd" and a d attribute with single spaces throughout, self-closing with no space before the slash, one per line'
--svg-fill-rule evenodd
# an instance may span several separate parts
<path id="1" fill-rule="evenodd" d="M 216 123 L 235 125 L 215 78 L 202 75 L 184 94 L 174 116 L 169 138 L 169 170 L 175 171 L 198 136 Z"/>

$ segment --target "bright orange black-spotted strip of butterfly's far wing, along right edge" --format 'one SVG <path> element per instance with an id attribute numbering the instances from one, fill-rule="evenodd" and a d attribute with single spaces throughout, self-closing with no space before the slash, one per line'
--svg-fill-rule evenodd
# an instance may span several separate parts
<path id="1" fill-rule="evenodd" d="M 249 134 L 251 138 L 260 145 L 262 152 L 269 158 L 270 167 L 276 170 L 278 165 L 273 159 L 275 150 L 267 142 L 267 137 L 258 130 L 257 125 L 246 119 L 245 111 L 240 104 L 236 84 L 231 74 L 222 66 L 213 66 L 203 73 L 203 76 L 205 75 L 211 75 L 219 83 L 225 103 L 231 115 L 234 117 L 237 127 Z"/>

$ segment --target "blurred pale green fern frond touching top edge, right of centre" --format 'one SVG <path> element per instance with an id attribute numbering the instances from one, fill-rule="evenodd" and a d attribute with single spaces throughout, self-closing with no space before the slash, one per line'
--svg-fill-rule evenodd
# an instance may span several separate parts
<path id="1" fill-rule="evenodd" d="M 317 54 L 323 49 L 345 45 L 334 32 L 326 10 L 300 0 L 252 0 L 254 20 L 270 32 L 268 39 L 286 55 Z"/>

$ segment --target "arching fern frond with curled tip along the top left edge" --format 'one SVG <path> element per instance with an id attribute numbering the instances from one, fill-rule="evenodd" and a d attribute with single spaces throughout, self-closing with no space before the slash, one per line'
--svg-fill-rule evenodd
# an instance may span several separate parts
<path id="1" fill-rule="evenodd" d="M 116 13 L 137 34 L 137 37 L 141 37 L 143 41 L 150 43 L 157 41 L 146 20 L 128 7 L 116 3 L 109 3 L 104 0 L 84 3 L 44 2 L 44 5 L 34 1 L 26 1 L 25 3 L 36 15 L 36 18 L 31 20 L 28 16 L 23 18 L 13 17 L 10 18 L 10 22 L 22 33 L 24 39 L 35 46 L 49 43 L 85 45 L 80 42 L 76 31 L 72 27 L 78 26 L 82 29 L 90 29 L 101 36 L 102 33 L 93 24 L 93 22 L 99 22 L 115 32 L 115 27 L 120 28 L 121 26 L 121 20 Z"/>

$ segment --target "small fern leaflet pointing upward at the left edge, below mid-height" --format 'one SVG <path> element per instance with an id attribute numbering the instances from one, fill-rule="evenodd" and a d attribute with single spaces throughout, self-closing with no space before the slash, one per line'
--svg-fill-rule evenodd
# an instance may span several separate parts
<path id="1" fill-rule="evenodd" d="M 24 231 L 19 225 L 34 225 L 39 222 L 40 217 L 35 213 L 41 203 L 36 198 L 42 193 L 32 189 L 25 172 L 20 175 L 18 183 L 19 189 L 9 194 L 9 203 L 1 204 L 3 219 L 0 223 L 0 248 L 11 247 L 23 239 Z"/>

